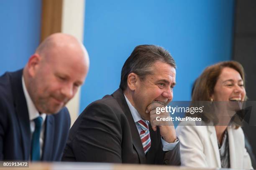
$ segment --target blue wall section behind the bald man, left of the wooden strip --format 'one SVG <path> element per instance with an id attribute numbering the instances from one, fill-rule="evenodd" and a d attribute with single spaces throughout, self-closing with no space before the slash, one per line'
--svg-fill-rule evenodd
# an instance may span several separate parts
<path id="1" fill-rule="evenodd" d="M 0 0 L 0 75 L 22 68 L 40 41 L 41 0 Z"/>

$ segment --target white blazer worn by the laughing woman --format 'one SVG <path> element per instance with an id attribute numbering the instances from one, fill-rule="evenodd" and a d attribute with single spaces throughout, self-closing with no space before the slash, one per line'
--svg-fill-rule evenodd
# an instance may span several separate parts
<path id="1" fill-rule="evenodd" d="M 245 148 L 243 130 L 230 126 L 227 129 L 230 168 L 253 169 Z M 195 123 L 188 123 L 185 126 L 179 125 L 176 132 L 180 140 L 182 166 L 221 168 L 214 126 L 195 126 Z"/>

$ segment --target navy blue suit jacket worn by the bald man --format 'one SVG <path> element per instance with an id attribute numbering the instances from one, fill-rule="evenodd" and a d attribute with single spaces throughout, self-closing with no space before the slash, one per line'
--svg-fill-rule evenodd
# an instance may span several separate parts
<path id="1" fill-rule="evenodd" d="M 31 153 L 30 121 L 21 77 L 22 70 L 0 77 L 0 160 L 28 160 Z M 67 108 L 46 116 L 42 160 L 61 160 L 69 127 Z"/>

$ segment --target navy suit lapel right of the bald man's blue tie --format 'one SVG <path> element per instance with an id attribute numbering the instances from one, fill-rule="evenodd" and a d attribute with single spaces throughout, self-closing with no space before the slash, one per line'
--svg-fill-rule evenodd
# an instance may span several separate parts
<path id="1" fill-rule="evenodd" d="M 44 131 L 44 148 L 42 154 L 42 160 L 51 160 L 51 153 L 53 150 L 54 143 L 54 116 L 47 115 L 45 120 L 45 131 Z"/>

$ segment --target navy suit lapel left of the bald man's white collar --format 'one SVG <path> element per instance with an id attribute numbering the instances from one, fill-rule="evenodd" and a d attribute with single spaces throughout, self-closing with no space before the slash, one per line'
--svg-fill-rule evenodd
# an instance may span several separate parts
<path id="1" fill-rule="evenodd" d="M 13 99 L 17 114 L 17 120 L 20 126 L 23 145 L 23 158 L 24 160 L 28 160 L 31 149 L 31 131 L 27 102 L 22 88 L 22 71 L 23 70 L 19 70 L 13 73 L 11 86 L 13 89 Z"/>

